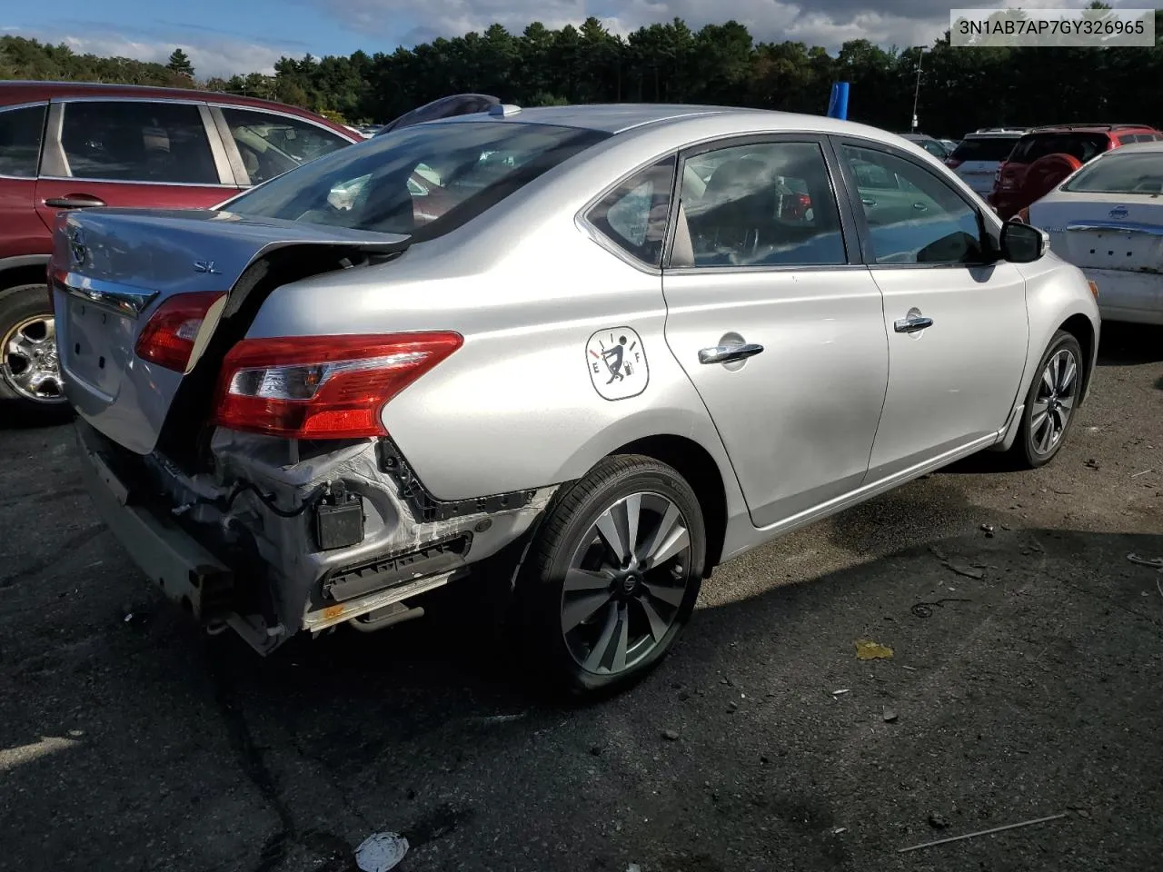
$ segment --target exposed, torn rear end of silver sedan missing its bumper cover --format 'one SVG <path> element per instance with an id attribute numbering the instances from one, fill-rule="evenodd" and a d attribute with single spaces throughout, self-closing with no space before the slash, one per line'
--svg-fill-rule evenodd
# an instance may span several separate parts
<path id="1" fill-rule="evenodd" d="M 264 655 L 300 630 L 399 621 L 406 600 L 518 539 L 556 491 L 441 502 L 388 439 L 312 453 L 220 429 L 213 472 L 190 476 L 81 420 L 77 435 L 93 503 L 137 566 L 207 629 L 230 627 Z"/>

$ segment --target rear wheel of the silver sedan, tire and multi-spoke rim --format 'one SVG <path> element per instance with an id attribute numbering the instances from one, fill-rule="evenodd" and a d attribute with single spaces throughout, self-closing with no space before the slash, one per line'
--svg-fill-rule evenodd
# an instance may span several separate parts
<path id="1" fill-rule="evenodd" d="M 678 472 L 607 458 L 549 509 L 518 588 L 522 630 L 568 689 L 622 687 L 690 617 L 705 555 L 699 501 Z"/>

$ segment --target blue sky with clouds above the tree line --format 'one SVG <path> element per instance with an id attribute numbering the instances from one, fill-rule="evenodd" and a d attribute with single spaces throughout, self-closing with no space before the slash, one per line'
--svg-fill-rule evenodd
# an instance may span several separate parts
<path id="1" fill-rule="evenodd" d="M 1163 0 L 1114 0 L 1156 7 Z M 1077 7 L 1086 0 L 962 0 L 958 7 Z M 270 72 L 280 55 L 390 52 L 435 36 L 520 33 L 580 23 L 588 15 L 615 33 L 682 17 L 698 28 L 735 19 L 757 38 L 800 40 L 837 49 L 846 40 L 927 44 L 949 22 L 934 0 L 0 0 L 0 33 L 66 42 L 79 52 L 164 60 L 181 47 L 199 78 Z"/>

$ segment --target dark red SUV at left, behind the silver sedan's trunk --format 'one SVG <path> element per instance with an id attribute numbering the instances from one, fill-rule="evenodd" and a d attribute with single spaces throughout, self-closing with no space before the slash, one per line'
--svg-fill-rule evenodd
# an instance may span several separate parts
<path id="1" fill-rule="evenodd" d="M 0 83 L 0 408 L 64 407 L 44 273 L 58 209 L 206 208 L 355 142 L 231 94 Z"/>

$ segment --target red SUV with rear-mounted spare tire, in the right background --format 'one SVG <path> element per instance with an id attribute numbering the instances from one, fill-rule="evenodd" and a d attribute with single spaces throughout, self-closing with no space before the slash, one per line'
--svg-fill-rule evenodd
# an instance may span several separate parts
<path id="1" fill-rule="evenodd" d="M 990 205 L 1009 220 L 1091 158 L 1119 145 L 1153 140 L 1163 140 L 1163 134 L 1142 124 L 1036 127 L 1014 144 L 998 167 Z"/>

